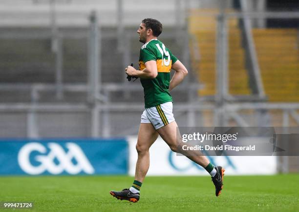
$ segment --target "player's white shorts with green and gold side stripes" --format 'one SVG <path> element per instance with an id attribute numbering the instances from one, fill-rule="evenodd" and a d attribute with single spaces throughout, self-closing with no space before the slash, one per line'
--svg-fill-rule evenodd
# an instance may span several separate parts
<path id="1" fill-rule="evenodd" d="M 171 101 L 146 108 L 141 115 L 141 123 L 151 123 L 156 130 L 171 123 L 172 121 L 174 121 L 174 117 L 172 114 Z"/>

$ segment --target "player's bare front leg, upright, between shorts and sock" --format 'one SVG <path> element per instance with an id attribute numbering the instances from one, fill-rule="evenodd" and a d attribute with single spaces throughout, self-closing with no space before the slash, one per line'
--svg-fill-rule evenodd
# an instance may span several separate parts
<path id="1" fill-rule="evenodd" d="M 149 147 L 155 142 L 158 133 L 150 123 L 141 123 L 138 132 L 136 150 L 138 159 L 136 163 L 135 180 L 143 182 L 149 170 Z"/>

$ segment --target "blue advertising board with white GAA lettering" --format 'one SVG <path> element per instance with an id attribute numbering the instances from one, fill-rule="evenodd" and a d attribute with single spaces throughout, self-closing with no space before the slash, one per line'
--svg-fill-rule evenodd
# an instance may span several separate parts
<path id="1" fill-rule="evenodd" d="M 127 173 L 128 142 L 125 139 L 0 141 L 0 174 Z"/>

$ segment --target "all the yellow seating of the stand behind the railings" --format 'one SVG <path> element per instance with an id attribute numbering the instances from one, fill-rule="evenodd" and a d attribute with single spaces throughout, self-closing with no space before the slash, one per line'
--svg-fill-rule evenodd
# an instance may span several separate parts
<path id="1" fill-rule="evenodd" d="M 197 10 L 197 13 L 217 14 L 218 12 L 205 9 Z M 238 20 L 230 19 L 228 26 L 229 92 L 233 95 L 248 95 L 251 91 Z M 189 31 L 196 38 L 199 48 L 199 64 L 195 56 L 191 56 L 193 69 L 197 70 L 199 81 L 204 84 L 199 95 L 214 95 L 216 19 L 213 16 L 191 16 Z M 298 30 L 295 28 L 254 28 L 253 36 L 261 77 L 269 101 L 299 101 Z"/>

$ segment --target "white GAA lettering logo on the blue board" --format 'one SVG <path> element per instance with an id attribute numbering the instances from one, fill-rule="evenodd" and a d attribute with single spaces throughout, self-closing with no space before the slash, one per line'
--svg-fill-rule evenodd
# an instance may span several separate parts
<path id="1" fill-rule="evenodd" d="M 65 143 L 67 151 L 58 143 L 47 143 L 47 148 L 37 142 L 25 144 L 19 154 L 18 162 L 21 169 L 28 174 L 93 174 L 94 168 L 86 155 L 75 143 Z"/>

